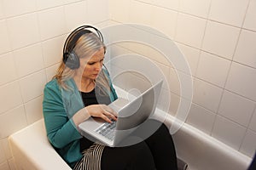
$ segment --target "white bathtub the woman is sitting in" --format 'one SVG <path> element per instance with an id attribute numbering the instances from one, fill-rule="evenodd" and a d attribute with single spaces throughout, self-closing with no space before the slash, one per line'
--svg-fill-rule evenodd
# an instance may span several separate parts
<path id="1" fill-rule="evenodd" d="M 119 92 L 119 96 L 125 95 Z M 158 118 L 164 115 L 155 111 Z M 173 117 L 166 117 L 166 125 Z M 173 135 L 177 156 L 189 165 L 189 170 L 246 170 L 252 159 L 184 123 Z M 70 170 L 46 137 L 44 120 L 21 129 L 9 136 L 9 144 L 18 170 Z"/>

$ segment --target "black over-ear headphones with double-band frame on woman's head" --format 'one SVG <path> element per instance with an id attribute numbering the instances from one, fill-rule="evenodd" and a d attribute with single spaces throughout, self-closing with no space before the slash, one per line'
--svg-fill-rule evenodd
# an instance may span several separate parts
<path id="1" fill-rule="evenodd" d="M 74 31 L 72 31 L 67 37 L 63 48 L 63 62 L 71 70 L 78 69 L 80 66 L 79 56 L 74 53 L 73 48 L 76 46 L 79 38 L 85 34 L 92 33 L 94 30 L 100 40 L 103 42 L 102 32 L 96 29 L 94 26 L 79 26 Z"/>

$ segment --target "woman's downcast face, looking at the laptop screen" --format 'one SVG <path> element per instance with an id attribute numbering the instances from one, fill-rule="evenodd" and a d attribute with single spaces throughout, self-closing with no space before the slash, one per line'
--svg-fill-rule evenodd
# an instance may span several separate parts
<path id="1" fill-rule="evenodd" d="M 91 57 L 80 58 L 80 69 L 84 68 L 82 77 L 84 79 L 96 80 L 100 71 L 102 71 L 104 59 L 104 48 L 96 51 Z"/>

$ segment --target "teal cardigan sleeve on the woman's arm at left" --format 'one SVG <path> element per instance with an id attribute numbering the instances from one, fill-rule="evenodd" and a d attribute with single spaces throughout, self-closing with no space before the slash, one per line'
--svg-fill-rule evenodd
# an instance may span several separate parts
<path id="1" fill-rule="evenodd" d="M 61 90 L 51 82 L 44 88 L 44 123 L 49 142 L 55 148 L 62 148 L 74 140 L 82 138 L 73 119 L 69 119 L 64 108 Z"/>

